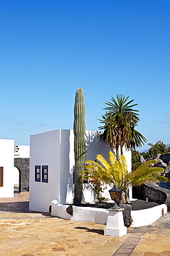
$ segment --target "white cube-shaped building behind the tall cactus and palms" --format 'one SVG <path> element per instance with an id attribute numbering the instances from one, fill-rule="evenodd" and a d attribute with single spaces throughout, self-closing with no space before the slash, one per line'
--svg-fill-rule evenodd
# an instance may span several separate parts
<path id="1" fill-rule="evenodd" d="M 97 154 L 108 158 L 109 147 L 100 143 L 97 131 L 86 131 L 86 160 Z M 131 152 L 126 152 L 131 170 Z M 30 210 L 48 212 L 52 200 L 72 203 L 74 199 L 74 131 L 58 129 L 30 136 Z M 83 201 L 92 201 L 84 184 Z"/>

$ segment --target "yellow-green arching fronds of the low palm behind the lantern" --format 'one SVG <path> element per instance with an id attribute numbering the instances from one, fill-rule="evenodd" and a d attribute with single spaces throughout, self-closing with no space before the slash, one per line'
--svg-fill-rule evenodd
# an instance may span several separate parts
<path id="1" fill-rule="evenodd" d="M 141 185 L 151 181 L 167 181 L 168 179 L 160 175 L 163 168 L 150 167 L 156 163 L 156 159 L 142 163 L 137 170 L 127 172 L 125 156 L 121 155 L 116 160 L 113 152 L 108 154 L 109 161 L 98 154 L 95 161 L 86 161 L 85 170 L 81 172 L 83 179 L 94 179 L 117 188 L 125 192 L 131 185 Z"/>

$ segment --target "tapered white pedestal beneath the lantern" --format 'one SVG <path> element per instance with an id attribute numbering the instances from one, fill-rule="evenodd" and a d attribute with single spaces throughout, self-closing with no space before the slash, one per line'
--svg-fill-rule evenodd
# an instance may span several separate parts
<path id="1" fill-rule="evenodd" d="M 104 235 L 113 237 L 122 237 L 127 234 L 127 227 L 124 226 L 123 208 L 118 210 L 108 209 L 107 226 L 104 230 Z"/>

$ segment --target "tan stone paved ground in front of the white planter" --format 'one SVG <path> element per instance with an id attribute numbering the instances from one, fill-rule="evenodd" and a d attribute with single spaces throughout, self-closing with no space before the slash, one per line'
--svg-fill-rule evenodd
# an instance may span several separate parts
<path id="1" fill-rule="evenodd" d="M 105 225 L 50 217 L 28 210 L 29 194 L 0 199 L 0 256 L 170 256 L 170 213 L 123 237 L 103 235 Z"/>

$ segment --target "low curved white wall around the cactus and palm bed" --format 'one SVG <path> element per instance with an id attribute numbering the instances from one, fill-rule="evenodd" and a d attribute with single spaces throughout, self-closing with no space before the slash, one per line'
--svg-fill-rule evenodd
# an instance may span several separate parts
<path id="1" fill-rule="evenodd" d="M 68 214 L 66 209 L 69 205 L 63 205 L 57 200 L 53 200 L 52 206 L 52 216 L 59 217 L 62 219 L 72 219 L 74 221 L 87 221 L 92 223 L 107 224 L 107 217 L 109 211 L 101 208 L 92 207 L 73 207 L 73 215 Z M 167 212 L 167 205 L 158 205 L 153 208 L 145 210 L 132 210 L 131 217 L 133 222 L 131 227 L 141 227 L 147 226 L 159 219 L 163 214 Z"/>

